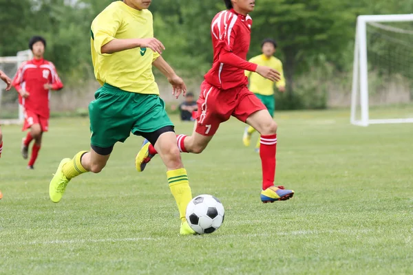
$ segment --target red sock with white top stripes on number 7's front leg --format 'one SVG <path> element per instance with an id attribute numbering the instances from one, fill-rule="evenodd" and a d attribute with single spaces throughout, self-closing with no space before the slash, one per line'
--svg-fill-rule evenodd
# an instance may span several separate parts
<path id="1" fill-rule="evenodd" d="M 277 134 L 262 135 L 260 157 L 262 164 L 262 190 L 274 185 L 275 153 L 277 152 Z"/>

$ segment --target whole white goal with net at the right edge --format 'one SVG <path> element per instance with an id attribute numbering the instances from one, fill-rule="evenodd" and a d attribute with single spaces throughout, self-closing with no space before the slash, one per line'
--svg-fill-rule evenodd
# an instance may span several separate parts
<path id="1" fill-rule="evenodd" d="M 357 18 L 350 122 L 413 122 L 413 14 Z"/>

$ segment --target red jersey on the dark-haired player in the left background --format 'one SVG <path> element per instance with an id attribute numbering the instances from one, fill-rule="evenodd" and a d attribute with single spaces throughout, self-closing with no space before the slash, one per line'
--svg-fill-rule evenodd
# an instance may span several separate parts
<path id="1" fill-rule="evenodd" d="M 43 118 L 49 118 L 49 98 L 50 91 L 45 89 L 45 84 L 51 84 L 53 90 L 63 88 L 56 68 L 50 61 L 44 59 L 32 59 L 23 63 L 16 76 L 13 79 L 13 86 L 17 91 L 25 90 L 30 96 L 28 98 L 21 98 L 19 102 L 26 110 L 30 110 Z"/>

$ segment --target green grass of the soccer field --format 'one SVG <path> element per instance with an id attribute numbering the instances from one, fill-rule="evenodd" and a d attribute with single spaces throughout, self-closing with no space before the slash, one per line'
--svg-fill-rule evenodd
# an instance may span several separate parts
<path id="1" fill-rule="evenodd" d="M 185 237 L 160 159 L 134 170 L 140 137 L 54 204 L 52 173 L 88 148 L 88 120 L 52 120 L 35 170 L 19 154 L 20 126 L 3 126 L 0 274 L 413 274 L 413 125 L 352 126 L 348 115 L 277 113 L 277 184 L 296 193 L 268 204 L 243 124 L 223 124 L 204 153 L 182 158 L 193 195 L 220 198 L 225 222 Z"/>

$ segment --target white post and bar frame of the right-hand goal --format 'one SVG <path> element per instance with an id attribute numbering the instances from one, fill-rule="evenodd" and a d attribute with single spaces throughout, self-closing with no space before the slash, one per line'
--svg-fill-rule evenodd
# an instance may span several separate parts
<path id="1" fill-rule="evenodd" d="M 354 43 L 354 63 L 352 76 L 352 95 L 350 123 L 358 126 L 384 123 L 412 123 L 413 118 L 374 119 L 369 118 L 368 105 L 368 56 L 366 24 L 370 22 L 403 22 L 413 21 L 413 14 L 360 15 L 357 17 Z M 361 117 L 356 117 L 357 99 L 360 102 Z"/>

